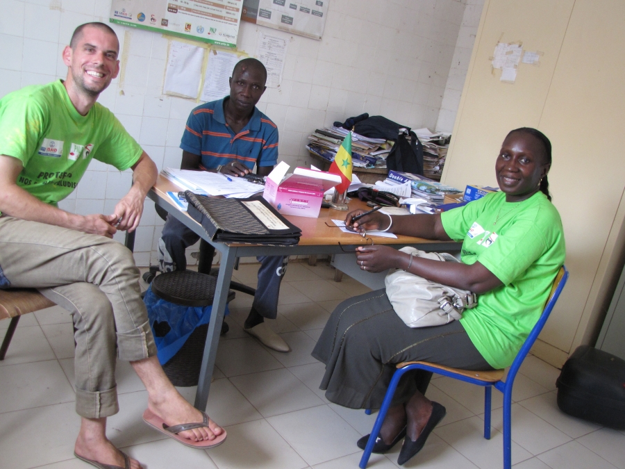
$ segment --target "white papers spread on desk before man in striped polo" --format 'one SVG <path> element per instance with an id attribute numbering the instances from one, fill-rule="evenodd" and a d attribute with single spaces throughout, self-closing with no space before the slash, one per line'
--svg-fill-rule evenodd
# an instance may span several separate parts
<path id="1" fill-rule="evenodd" d="M 176 170 L 166 167 L 160 174 L 183 190 L 196 194 L 222 195 L 226 198 L 245 199 L 265 189 L 247 179 L 226 176 L 216 172 Z"/>

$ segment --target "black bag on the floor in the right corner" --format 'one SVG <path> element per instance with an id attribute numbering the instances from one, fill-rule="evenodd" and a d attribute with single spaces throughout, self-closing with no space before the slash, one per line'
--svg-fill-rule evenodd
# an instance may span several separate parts
<path id="1" fill-rule="evenodd" d="M 625 360 L 581 345 L 562 367 L 556 386 L 562 412 L 625 429 Z"/>

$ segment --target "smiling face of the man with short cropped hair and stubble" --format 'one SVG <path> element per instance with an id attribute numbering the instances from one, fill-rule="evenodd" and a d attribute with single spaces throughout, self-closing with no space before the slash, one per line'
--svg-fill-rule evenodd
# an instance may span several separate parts
<path id="1" fill-rule="evenodd" d="M 63 62 L 69 67 L 67 81 L 79 92 L 100 94 L 119 73 L 118 52 L 114 34 L 86 26 L 74 47 L 67 46 L 63 51 Z"/>

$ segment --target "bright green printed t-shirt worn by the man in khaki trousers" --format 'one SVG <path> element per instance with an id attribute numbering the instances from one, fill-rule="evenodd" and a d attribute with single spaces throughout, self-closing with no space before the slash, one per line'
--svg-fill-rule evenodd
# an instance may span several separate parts
<path id="1" fill-rule="evenodd" d="M 80 115 L 57 80 L 0 99 L 0 154 L 22 161 L 18 186 L 56 206 L 76 188 L 92 158 L 123 171 L 142 149 L 104 106 L 96 103 Z"/>

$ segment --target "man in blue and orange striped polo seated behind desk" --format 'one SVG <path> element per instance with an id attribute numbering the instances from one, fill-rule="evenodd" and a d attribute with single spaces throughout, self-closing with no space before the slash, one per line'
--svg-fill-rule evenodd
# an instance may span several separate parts
<path id="1" fill-rule="evenodd" d="M 249 174 L 255 165 L 259 176 L 272 171 L 278 161 L 278 128 L 256 108 L 266 81 L 267 70 L 259 60 L 246 58 L 235 65 L 230 95 L 192 110 L 180 144 L 181 169 L 228 176 Z M 167 217 L 158 242 L 160 270 L 184 270 L 185 249 L 198 239 L 174 217 Z M 278 314 L 278 293 L 288 256 L 260 256 L 258 261 L 258 286 L 244 330 L 269 348 L 289 352 L 288 344 L 265 322 Z"/>

